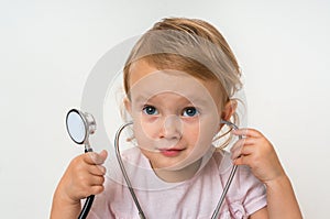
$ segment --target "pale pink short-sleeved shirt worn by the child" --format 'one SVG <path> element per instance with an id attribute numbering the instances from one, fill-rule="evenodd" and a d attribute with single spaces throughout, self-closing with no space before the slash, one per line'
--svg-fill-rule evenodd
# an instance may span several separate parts
<path id="1" fill-rule="evenodd" d="M 114 157 L 111 157 L 114 158 Z M 232 164 L 229 153 L 210 152 L 198 173 L 183 183 L 165 183 L 138 147 L 123 154 L 129 177 L 147 219 L 211 218 Z M 118 164 L 108 167 L 106 189 L 97 195 L 88 218 L 139 219 Z M 248 166 L 239 166 L 219 218 L 248 218 L 266 206 L 264 185 Z"/>

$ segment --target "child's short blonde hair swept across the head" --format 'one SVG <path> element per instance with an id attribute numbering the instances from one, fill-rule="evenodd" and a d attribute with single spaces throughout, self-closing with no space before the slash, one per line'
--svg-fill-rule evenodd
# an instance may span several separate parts
<path id="1" fill-rule="evenodd" d="M 230 46 L 215 26 L 202 20 L 166 18 L 142 35 L 123 69 L 129 98 L 130 67 L 140 59 L 157 69 L 176 69 L 202 80 L 218 80 L 222 108 L 242 86 L 240 67 Z M 238 116 L 232 118 L 237 123 Z"/>

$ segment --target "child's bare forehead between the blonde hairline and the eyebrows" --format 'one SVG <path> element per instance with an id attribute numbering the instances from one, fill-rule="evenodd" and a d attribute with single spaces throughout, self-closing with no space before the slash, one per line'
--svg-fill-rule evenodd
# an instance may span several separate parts
<path id="1" fill-rule="evenodd" d="M 168 92 L 183 96 L 191 102 L 219 102 L 221 97 L 220 88 L 213 80 L 202 80 L 174 69 L 158 70 L 144 61 L 132 64 L 129 85 L 132 100 Z"/>

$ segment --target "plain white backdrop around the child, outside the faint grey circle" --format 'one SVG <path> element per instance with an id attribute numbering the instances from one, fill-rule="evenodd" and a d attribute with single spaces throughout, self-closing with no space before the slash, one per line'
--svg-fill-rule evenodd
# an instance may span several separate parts
<path id="1" fill-rule="evenodd" d="M 0 1 L 1 218 L 47 218 L 82 153 L 65 130 L 97 61 L 164 17 L 216 25 L 245 78 L 249 125 L 276 146 L 305 218 L 329 217 L 330 2 Z"/>

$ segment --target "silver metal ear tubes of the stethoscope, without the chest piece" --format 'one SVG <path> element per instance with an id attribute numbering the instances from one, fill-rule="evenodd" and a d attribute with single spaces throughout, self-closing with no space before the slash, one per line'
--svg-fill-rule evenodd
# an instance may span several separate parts
<path id="1" fill-rule="evenodd" d="M 229 121 L 221 120 L 220 123 L 227 124 L 227 125 L 231 127 L 231 128 L 234 129 L 234 130 L 238 130 L 238 129 L 239 129 L 234 123 L 229 122 Z M 127 173 L 127 171 L 125 171 L 125 167 L 124 167 L 124 165 L 123 165 L 123 162 L 122 162 L 122 158 L 121 158 L 121 155 L 120 155 L 120 150 L 119 150 L 119 138 L 120 138 L 120 134 L 121 134 L 121 132 L 122 132 L 128 125 L 131 125 L 131 124 L 133 124 L 132 121 L 122 124 L 122 125 L 118 129 L 118 131 L 117 131 L 117 133 L 116 133 L 116 138 L 114 138 L 116 156 L 117 156 L 118 163 L 119 163 L 119 165 L 120 165 L 120 168 L 121 168 L 122 175 L 123 175 L 123 177 L 124 177 L 124 180 L 125 180 L 125 183 L 127 183 L 127 185 L 128 185 L 128 188 L 129 188 L 129 190 L 130 190 L 130 193 L 131 193 L 131 196 L 132 196 L 132 198 L 133 198 L 133 201 L 134 201 L 134 204 L 135 204 L 135 206 L 136 206 L 136 208 L 138 208 L 139 216 L 140 216 L 141 219 L 145 219 L 145 215 L 144 215 L 144 212 L 143 212 L 141 206 L 140 206 L 140 202 L 139 202 L 139 200 L 138 200 L 138 197 L 136 197 L 136 195 L 135 195 L 135 193 L 134 193 L 134 189 L 133 189 L 133 187 L 132 187 L 131 180 L 130 180 L 130 178 L 129 178 L 129 176 L 128 176 L 128 173 Z M 239 139 L 242 139 L 242 136 L 239 135 Z M 222 191 L 222 194 L 221 194 L 221 196 L 220 196 L 220 199 L 219 199 L 219 201 L 218 201 L 218 204 L 217 204 L 217 207 L 216 207 L 216 209 L 215 209 L 215 211 L 213 211 L 213 213 L 212 213 L 211 219 L 216 219 L 216 218 L 219 217 L 220 208 L 221 208 L 221 206 L 222 206 L 222 204 L 223 204 L 223 201 L 224 201 L 226 195 L 227 195 L 227 193 L 228 193 L 228 190 L 229 190 L 229 187 L 230 187 L 230 185 L 231 185 L 231 183 L 232 183 L 232 180 L 233 180 L 233 177 L 234 177 L 234 175 L 235 175 L 235 173 L 237 173 L 237 169 L 238 169 L 238 165 L 233 165 L 233 166 L 232 166 L 232 169 L 231 169 L 231 172 L 230 172 L 230 175 L 229 175 L 229 177 L 228 177 L 228 179 L 227 179 L 227 183 L 226 183 L 226 186 L 224 186 L 224 188 L 223 188 L 223 191 Z"/>

